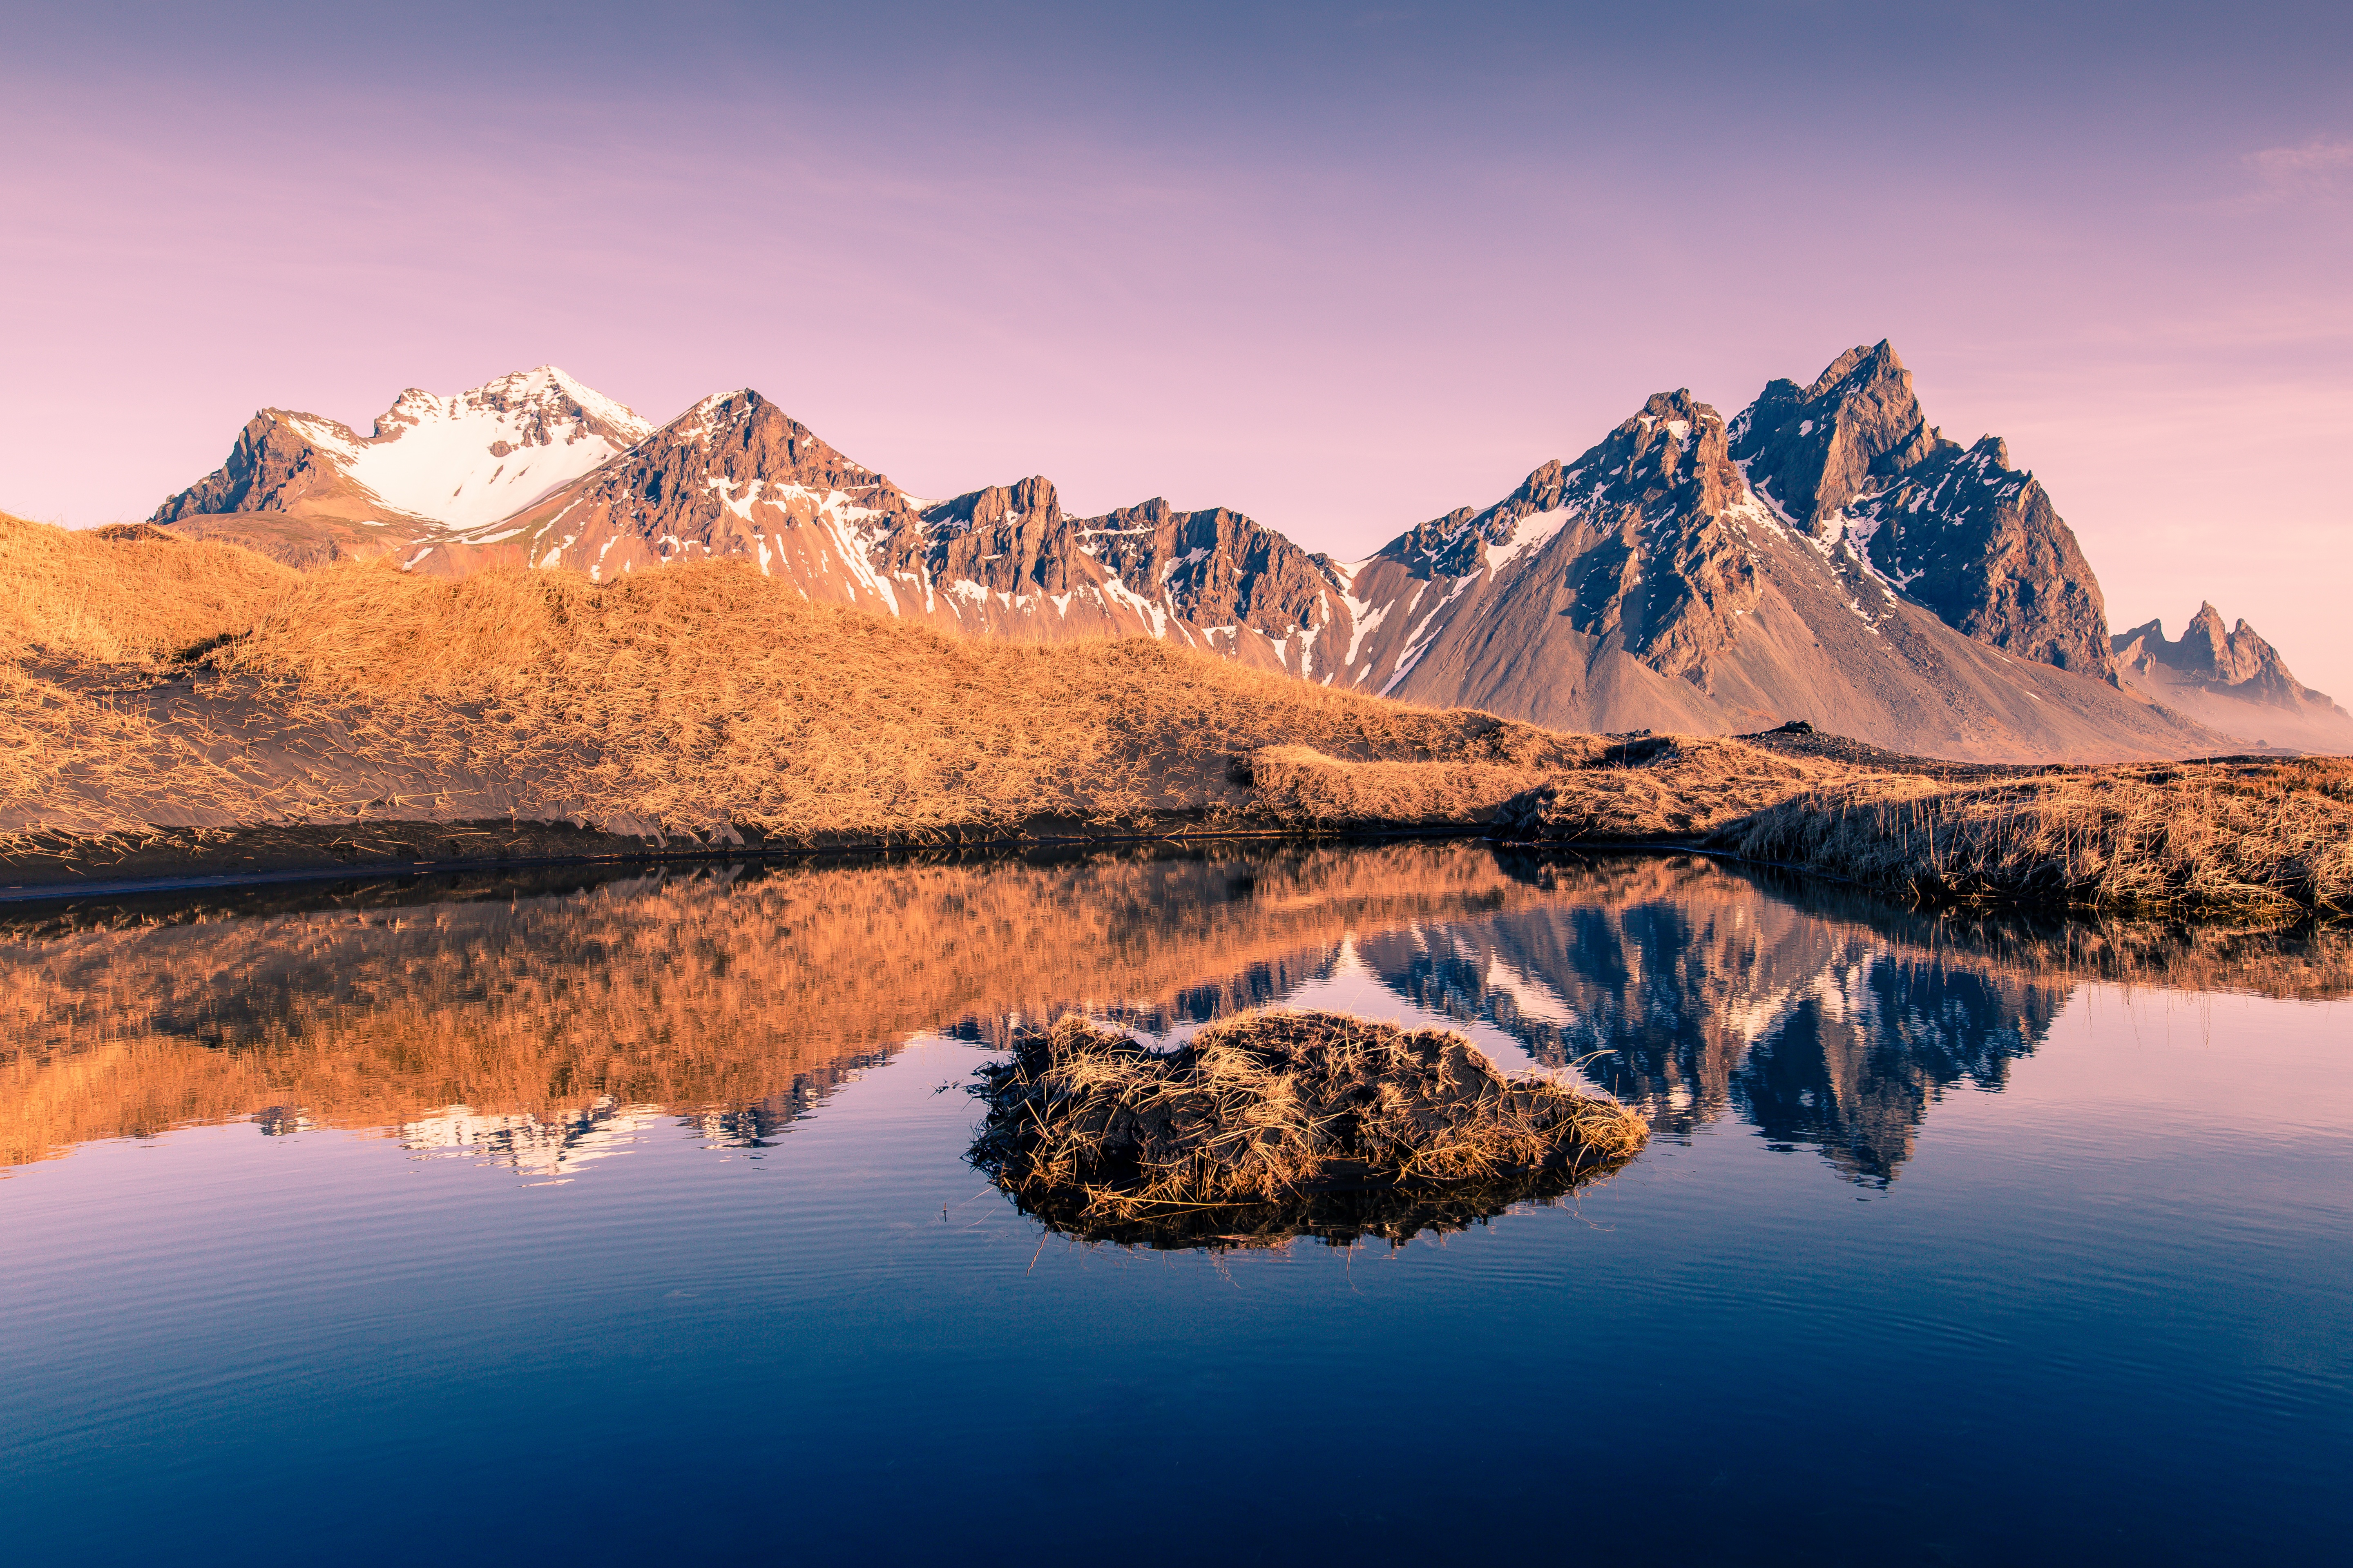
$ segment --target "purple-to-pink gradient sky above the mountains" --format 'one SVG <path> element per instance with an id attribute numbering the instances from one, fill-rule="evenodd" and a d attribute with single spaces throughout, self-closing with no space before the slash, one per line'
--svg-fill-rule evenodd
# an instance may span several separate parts
<path id="1" fill-rule="evenodd" d="M 555 362 L 1353 557 L 1889 336 L 2115 625 L 2209 597 L 2353 701 L 2344 5 L 14 0 L 0 148 L 31 517 Z"/>

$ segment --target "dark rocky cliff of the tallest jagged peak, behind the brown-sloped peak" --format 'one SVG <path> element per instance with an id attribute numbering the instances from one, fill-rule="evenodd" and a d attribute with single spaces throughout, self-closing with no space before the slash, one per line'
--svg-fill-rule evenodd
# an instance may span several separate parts
<path id="1" fill-rule="evenodd" d="M 1732 456 L 1760 496 L 1817 538 L 1852 538 L 1953 630 L 2113 677 L 2108 611 L 2073 529 L 1998 437 L 1944 440 L 1887 343 L 1847 350 L 1809 388 L 1767 386 L 1734 421 Z"/>

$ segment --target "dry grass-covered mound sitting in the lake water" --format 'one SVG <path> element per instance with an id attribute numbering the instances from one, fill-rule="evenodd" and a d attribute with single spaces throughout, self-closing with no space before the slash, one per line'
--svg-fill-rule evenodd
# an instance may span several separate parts
<path id="1" fill-rule="evenodd" d="M 1647 1138 L 1461 1034 L 1346 1013 L 1242 1013 L 1176 1051 L 1073 1016 L 979 1079 L 972 1164 L 1054 1229 L 1146 1246 L 1402 1244 L 1560 1197 Z"/>

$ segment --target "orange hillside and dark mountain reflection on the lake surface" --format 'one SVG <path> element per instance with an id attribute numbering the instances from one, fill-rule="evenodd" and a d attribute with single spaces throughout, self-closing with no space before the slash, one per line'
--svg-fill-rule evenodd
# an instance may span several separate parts
<path id="1" fill-rule="evenodd" d="M 1687 1135 L 1887 1182 L 2078 980 L 2353 990 L 2344 929 L 1932 917 L 1701 858 L 1482 844 L 487 877 L 0 922 L 0 1161 L 191 1121 L 384 1131 L 562 1180 L 654 1126 L 760 1150 L 920 1034 L 1153 1034 L 1348 973 Z"/>

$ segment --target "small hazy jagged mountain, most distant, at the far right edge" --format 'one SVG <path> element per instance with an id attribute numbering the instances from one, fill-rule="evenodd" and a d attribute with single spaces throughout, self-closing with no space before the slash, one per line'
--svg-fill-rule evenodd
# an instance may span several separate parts
<path id="1" fill-rule="evenodd" d="M 2113 644 L 2127 686 L 2200 724 L 2257 745 L 2353 752 L 2353 715 L 2299 682 L 2245 621 L 2226 632 L 2212 604 L 2198 607 L 2181 642 L 2167 642 L 2165 625 L 2151 621 L 2118 632 Z"/>

